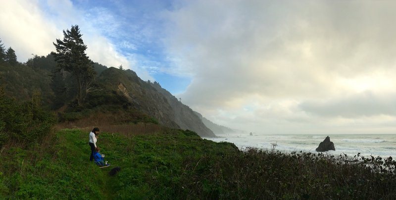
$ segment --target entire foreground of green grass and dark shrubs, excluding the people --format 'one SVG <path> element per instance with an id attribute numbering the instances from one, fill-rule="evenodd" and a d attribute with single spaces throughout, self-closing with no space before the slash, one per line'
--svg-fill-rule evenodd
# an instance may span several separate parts
<path id="1" fill-rule="evenodd" d="M 391 158 L 349 159 L 204 140 L 191 131 L 101 133 L 121 171 L 88 161 L 88 133 L 64 129 L 46 144 L 0 152 L 0 199 L 384 199 L 396 198 Z"/>

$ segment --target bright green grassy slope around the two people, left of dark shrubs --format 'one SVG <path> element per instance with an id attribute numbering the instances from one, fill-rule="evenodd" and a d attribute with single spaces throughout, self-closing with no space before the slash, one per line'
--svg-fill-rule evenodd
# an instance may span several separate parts
<path id="1" fill-rule="evenodd" d="M 171 199 L 188 197 L 179 191 L 188 180 L 187 172 L 204 157 L 236 152 L 232 144 L 202 140 L 193 132 L 170 130 L 155 135 L 102 133 L 101 152 L 121 171 L 114 177 L 112 167 L 99 168 L 88 161 L 88 133 L 64 129 L 51 145 L 3 151 L 0 158 L 0 197 L 58 199 Z M 191 162 L 190 162 L 191 161 Z M 185 177 L 183 177 L 185 176 Z"/>

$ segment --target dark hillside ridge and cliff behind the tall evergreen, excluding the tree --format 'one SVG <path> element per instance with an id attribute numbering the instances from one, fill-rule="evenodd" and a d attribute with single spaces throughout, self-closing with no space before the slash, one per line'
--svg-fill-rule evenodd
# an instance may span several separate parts
<path id="1" fill-rule="evenodd" d="M 178 101 L 159 83 L 143 81 L 133 70 L 107 68 L 94 63 L 97 76 L 92 85 L 93 90 L 87 93 L 84 103 L 78 106 L 74 101 L 76 90 L 72 75 L 57 71 L 56 63 L 50 55 L 37 56 L 30 62 L 33 61 L 35 67 L 30 64 L 18 63 L 11 66 L 0 63 L 0 86 L 6 95 L 20 101 L 32 100 L 34 95 L 41 96 L 42 104 L 57 111 L 58 119 L 62 121 L 89 118 L 106 109 L 113 113 L 120 110 L 125 114 L 140 113 L 139 117 L 132 117 L 136 118 L 134 123 L 147 115 L 143 118 L 152 119 L 143 122 L 152 121 L 169 128 L 192 130 L 201 137 L 216 137 L 189 106 Z M 45 65 L 36 66 L 37 63 Z"/>

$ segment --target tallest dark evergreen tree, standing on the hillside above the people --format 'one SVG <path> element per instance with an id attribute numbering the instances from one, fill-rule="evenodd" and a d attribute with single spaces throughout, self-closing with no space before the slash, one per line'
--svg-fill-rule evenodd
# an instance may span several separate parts
<path id="1" fill-rule="evenodd" d="M 76 78 L 78 105 L 83 103 L 96 74 L 92 61 L 85 53 L 87 46 L 81 37 L 78 25 L 71 26 L 70 30 L 63 30 L 63 40 L 56 39 L 56 44 L 53 43 L 56 52 L 51 52 L 59 68 Z"/>

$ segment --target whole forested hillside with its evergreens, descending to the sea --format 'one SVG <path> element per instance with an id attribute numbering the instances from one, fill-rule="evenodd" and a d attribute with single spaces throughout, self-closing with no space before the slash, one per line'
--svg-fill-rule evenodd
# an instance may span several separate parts
<path id="1" fill-rule="evenodd" d="M 63 36 L 54 42 L 54 51 L 33 55 L 25 63 L 18 62 L 15 51 L 5 50 L 0 41 L 0 87 L 5 96 L 20 102 L 38 98 L 40 105 L 55 112 L 57 123 L 75 127 L 84 124 L 81 120 L 106 113 L 92 126 L 156 123 L 215 137 L 190 107 L 159 83 L 143 81 L 122 66 L 108 68 L 89 59 L 77 25 L 63 31 Z"/>

